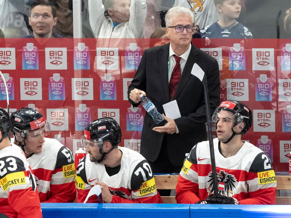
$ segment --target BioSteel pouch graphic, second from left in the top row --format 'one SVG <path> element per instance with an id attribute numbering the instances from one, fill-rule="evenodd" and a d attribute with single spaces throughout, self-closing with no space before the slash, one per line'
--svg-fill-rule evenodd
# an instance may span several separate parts
<path id="1" fill-rule="evenodd" d="M 85 43 L 78 43 L 74 48 L 74 70 L 90 69 L 90 52 Z"/>

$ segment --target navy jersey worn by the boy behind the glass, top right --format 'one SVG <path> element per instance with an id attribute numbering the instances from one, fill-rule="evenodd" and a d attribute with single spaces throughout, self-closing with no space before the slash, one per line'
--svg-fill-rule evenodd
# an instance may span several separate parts
<path id="1" fill-rule="evenodd" d="M 230 28 L 222 28 L 217 22 L 201 29 L 201 38 L 209 39 L 252 39 L 253 35 L 249 28 L 237 23 Z"/>

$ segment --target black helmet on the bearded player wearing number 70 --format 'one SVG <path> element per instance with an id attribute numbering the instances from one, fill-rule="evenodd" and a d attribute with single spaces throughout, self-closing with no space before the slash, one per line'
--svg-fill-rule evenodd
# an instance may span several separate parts
<path id="1" fill-rule="evenodd" d="M 103 141 L 110 139 L 112 147 L 115 148 L 121 142 L 121 129 L 115 119 L 104 117 L 94 120 L 84 129 L 84 135 L 81 137 L 83 149 L 86 148 L 88 141 L 97 143 L 99 147 L 103 146 Z"/>

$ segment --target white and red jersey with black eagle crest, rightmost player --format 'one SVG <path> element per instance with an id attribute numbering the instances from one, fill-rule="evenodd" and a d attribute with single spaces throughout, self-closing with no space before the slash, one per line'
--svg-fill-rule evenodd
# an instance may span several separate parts
<path id="1" fill-rule="evenodd" d="M 251 143 L 231 157 L 219 151 L 213 139 L 220 195 L 236 198 L 240 204 L 275 204 L 276 176 L 269 157 Z M 209 141 L 196 144 L 184 162 L 176 187 L 177 203 L 196 203 L 213 194 Z"/>

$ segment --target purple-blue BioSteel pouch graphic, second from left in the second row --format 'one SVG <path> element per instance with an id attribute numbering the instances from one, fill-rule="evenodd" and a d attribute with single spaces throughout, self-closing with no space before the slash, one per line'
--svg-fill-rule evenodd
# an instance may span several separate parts
<path id="1" fill-rule="evenodd" d="M 49 78 L 49 100 L 65 100 L 65 80 L 59 73 Z"/>

